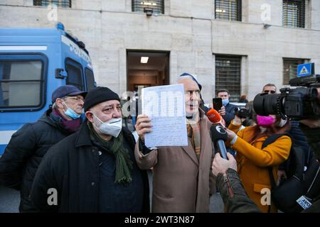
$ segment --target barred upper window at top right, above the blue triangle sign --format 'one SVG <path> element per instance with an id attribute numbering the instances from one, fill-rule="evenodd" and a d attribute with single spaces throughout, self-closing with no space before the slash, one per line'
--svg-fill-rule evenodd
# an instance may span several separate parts
<path id="1" fill-rule="evenodd" d="M 283 25 L 291 28 L 304 28 L 305 9 L 304 0 L 284 0 Z"/>

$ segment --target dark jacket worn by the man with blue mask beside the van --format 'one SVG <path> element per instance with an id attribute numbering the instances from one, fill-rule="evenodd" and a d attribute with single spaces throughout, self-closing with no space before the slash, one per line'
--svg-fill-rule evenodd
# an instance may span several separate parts
<path id="1" fill-rule="evenodd" d="M 16 131 L 0 159 L 0 184 L 21 192 L 21 212 L 33 211 L 28 197 L 43 155 L 70 134 L 50 118 L 50 113 L 51 109 L 37 122 Z"/>

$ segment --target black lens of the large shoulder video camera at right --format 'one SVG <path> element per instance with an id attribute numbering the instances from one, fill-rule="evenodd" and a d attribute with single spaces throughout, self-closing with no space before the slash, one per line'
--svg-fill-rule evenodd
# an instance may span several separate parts
<path id="1" fill-rule="evenodd" d="M 261 116 L 279 114 L 277 111 L 277 100 L 280 94 L 257 94 L 253 99 L 253 109 Z"/>

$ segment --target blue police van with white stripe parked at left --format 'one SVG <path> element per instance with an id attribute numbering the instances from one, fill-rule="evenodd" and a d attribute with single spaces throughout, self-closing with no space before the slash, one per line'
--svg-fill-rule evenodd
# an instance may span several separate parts
<path id="1" fill-rule="evenodd" d="M 0 28 L 0 156 L 11 135 L 37 121 L 62 85 L 95 87 L 85 44 L 56 28 Z"/>

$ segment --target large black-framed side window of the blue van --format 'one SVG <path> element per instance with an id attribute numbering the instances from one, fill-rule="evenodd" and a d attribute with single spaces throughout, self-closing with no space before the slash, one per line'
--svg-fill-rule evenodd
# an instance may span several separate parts
<path id="1" fill-rule="evenodd" d="M 0 108 L 41 105 L 41 61 L 0 60 Z"/>

